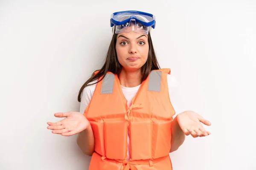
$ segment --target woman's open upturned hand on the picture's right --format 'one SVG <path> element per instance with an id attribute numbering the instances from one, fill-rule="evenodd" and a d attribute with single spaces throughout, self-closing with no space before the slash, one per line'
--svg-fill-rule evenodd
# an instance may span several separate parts
<path id="1" fill-rule="evenodd" d="M 177 115 L 177 122 L 180 125 L 181 130 L 185 133 L 185 135 L 193 136 L 194 138 L 200 136 L 207 136 L 211 134 L 210 132 L 206 131 L 202 125 L 210 126 L 211 122 L 204 119 L 198 113 L 193 111 L 185 111 Z"/>

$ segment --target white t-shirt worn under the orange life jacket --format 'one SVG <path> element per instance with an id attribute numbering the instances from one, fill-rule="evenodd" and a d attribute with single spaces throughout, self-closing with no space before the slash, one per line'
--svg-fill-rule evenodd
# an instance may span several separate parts
<path id="1" fill-rule="evenodd" d="M 97 82 L 98 79 L 94 80 L 93 82 L 90 82 L 89 84 L 93 84 Z M 172 102 L 173 108 L 176 108 L 177 103 L 177 90 L 178 90 L 178 83 L 174 76 L 171 74 L 167 74 L 167 83 L 168 83 L 168 89 L 169 89 L 169 96 L 170 100 Z M 87 105 L 89 105 L 90 100 L 92 99 L 93 93 L 95 91 L 96 84 L 89 85 L 85 87 L 81 94 L 81 103 L 80 103 L 80 113 L 84 113 L 85 108 Z M 137 91 L 139 90 L 140 85 L 132 88 L 127 88 L 121 85 L 122 92 L 127 100 L 127 105 L 131 106 L 131 100 L 136 95 Z M 176 109 L 175 109 L 176 110 Z M 129 135 L 127 134 L 127 160 L 130 159 L 130 139 Z"/>

